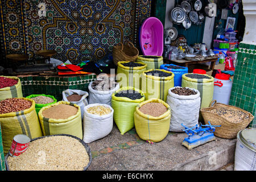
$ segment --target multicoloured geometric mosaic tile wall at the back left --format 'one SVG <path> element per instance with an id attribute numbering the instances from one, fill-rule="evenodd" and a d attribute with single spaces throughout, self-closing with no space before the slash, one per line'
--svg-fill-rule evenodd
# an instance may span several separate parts
<path id="1" fill-rule="evenodd" d="M 39 16 L 44 3 L 46 16 Z M 2 52 L 30 55 L 54 49 L 56 59 L 72 63 L 98 60 L 119 42 L 138 41 L 150 16 L 151 0 L 6 0 L 0 1 Z"/>

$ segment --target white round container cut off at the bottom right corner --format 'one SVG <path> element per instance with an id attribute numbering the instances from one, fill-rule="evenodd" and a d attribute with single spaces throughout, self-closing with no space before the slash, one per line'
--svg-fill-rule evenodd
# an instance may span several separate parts
<path id="1" fill-rule="evenodd" d="M 256 128 L 237 133 L 234 171 L 256 171 Z"/>

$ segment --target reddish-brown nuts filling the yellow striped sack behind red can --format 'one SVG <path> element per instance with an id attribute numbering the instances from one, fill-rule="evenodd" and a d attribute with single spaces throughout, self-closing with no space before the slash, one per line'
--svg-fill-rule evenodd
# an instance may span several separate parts
<path id="1" fill-rule="evenodd" d="M 7 98 L 0 101 L 0 114 L 18 112 L 30 108 L 32 102 L 22 98 Z"/>

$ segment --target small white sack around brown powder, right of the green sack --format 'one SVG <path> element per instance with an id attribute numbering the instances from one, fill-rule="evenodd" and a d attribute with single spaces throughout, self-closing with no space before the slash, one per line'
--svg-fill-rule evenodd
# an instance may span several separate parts
<path id="1" fill-rule="evenodd" d="M 62 92 L 63 101 L 69 102 L 67 97 L 71 96 L 72 94 L 79 94 L 80 96 L 82 96 L 80 101 L 71 102 L 71 103 L 80 106 L 80 108 L 81 108 L 81 118 L 83 118 L 84 117 L 84 107 L 86 105 L 88 105 L 88 101 L 87 101 L 88 92 L 85 92 L 85 91 L 82 91 L 82 90 L 72 90 L 72 89 L 63 90 L 63 92 Z"/>

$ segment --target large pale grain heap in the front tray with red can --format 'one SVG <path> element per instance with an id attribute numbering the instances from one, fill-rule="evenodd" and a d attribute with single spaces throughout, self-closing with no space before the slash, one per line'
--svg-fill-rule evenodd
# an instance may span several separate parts
<path id="1" fill-rule="evenodd" d="M 79 140 L 53 136 L 30 142 L 23 154 L 7 161 L 10 171 L 82 171 L 89 156 Z"/>

